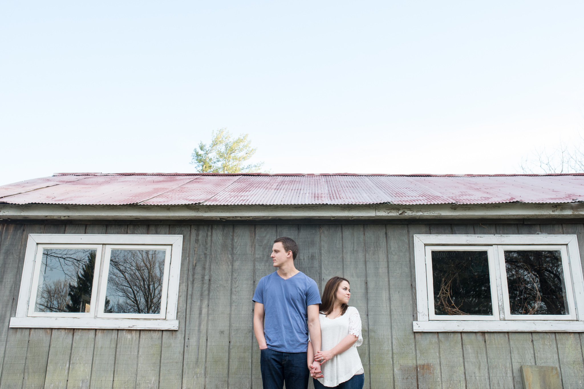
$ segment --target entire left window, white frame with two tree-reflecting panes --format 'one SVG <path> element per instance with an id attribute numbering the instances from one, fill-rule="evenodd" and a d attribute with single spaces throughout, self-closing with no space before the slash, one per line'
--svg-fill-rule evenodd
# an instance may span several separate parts
<path id="1" fill-rule="evenodd" d="M 29 234 L 10 326 L 177 330 L 181 251 L 182 235 Z"/>

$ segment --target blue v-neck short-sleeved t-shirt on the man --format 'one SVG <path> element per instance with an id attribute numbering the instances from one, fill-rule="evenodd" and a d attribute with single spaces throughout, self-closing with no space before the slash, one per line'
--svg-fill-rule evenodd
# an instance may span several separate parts
<path id="1" fill-rule="evenodd" d="M 275 271 L 259 280 L 252 300 L 263 304 L 263 333 L 267 348 L 281 352 L 306 352 L 307 307 L 321 303 L 314 279 L 303 272 L 283 279 Z"/>

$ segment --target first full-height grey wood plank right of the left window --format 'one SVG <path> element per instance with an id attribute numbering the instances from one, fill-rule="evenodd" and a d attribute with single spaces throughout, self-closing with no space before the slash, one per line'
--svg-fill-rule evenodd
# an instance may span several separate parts
<path id="1" fill-rule="evenodd" d="M 189 271 L 189 290 L 185 318 L 185 357 L 182 387 L 203 388 L 207 349 L 209 271 L 211 268 L 210 225 L 192 226 L 194 263 Z"/>

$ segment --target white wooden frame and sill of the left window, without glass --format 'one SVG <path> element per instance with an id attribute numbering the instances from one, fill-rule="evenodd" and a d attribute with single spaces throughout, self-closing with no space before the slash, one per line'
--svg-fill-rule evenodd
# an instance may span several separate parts
<path id="1" fill-rule="evenodd" d="M 18 306 L 15 317 L 10 320 L 10 327 L 178 330 L 179 323 L 176 315 L 182 239 L 182 235 L 29 234 Z M 98 250 L 89 313 L 34 312 L 43 248 L 47 247 L 96 248 Z M 102 312 L 109 271 L 109 254 L 112 248 L 121 247 L 149 250 L 165 248 L 160 314 L 106 314 Z"/>

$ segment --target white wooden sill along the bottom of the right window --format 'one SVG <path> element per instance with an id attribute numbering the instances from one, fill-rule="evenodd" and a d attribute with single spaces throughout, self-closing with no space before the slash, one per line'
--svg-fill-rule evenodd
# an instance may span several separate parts
<path id="1" fill-rule="evenodd" d="M 414 332 L 584 332 L 577 320 L 434 320 L 414 321 Z"/>

